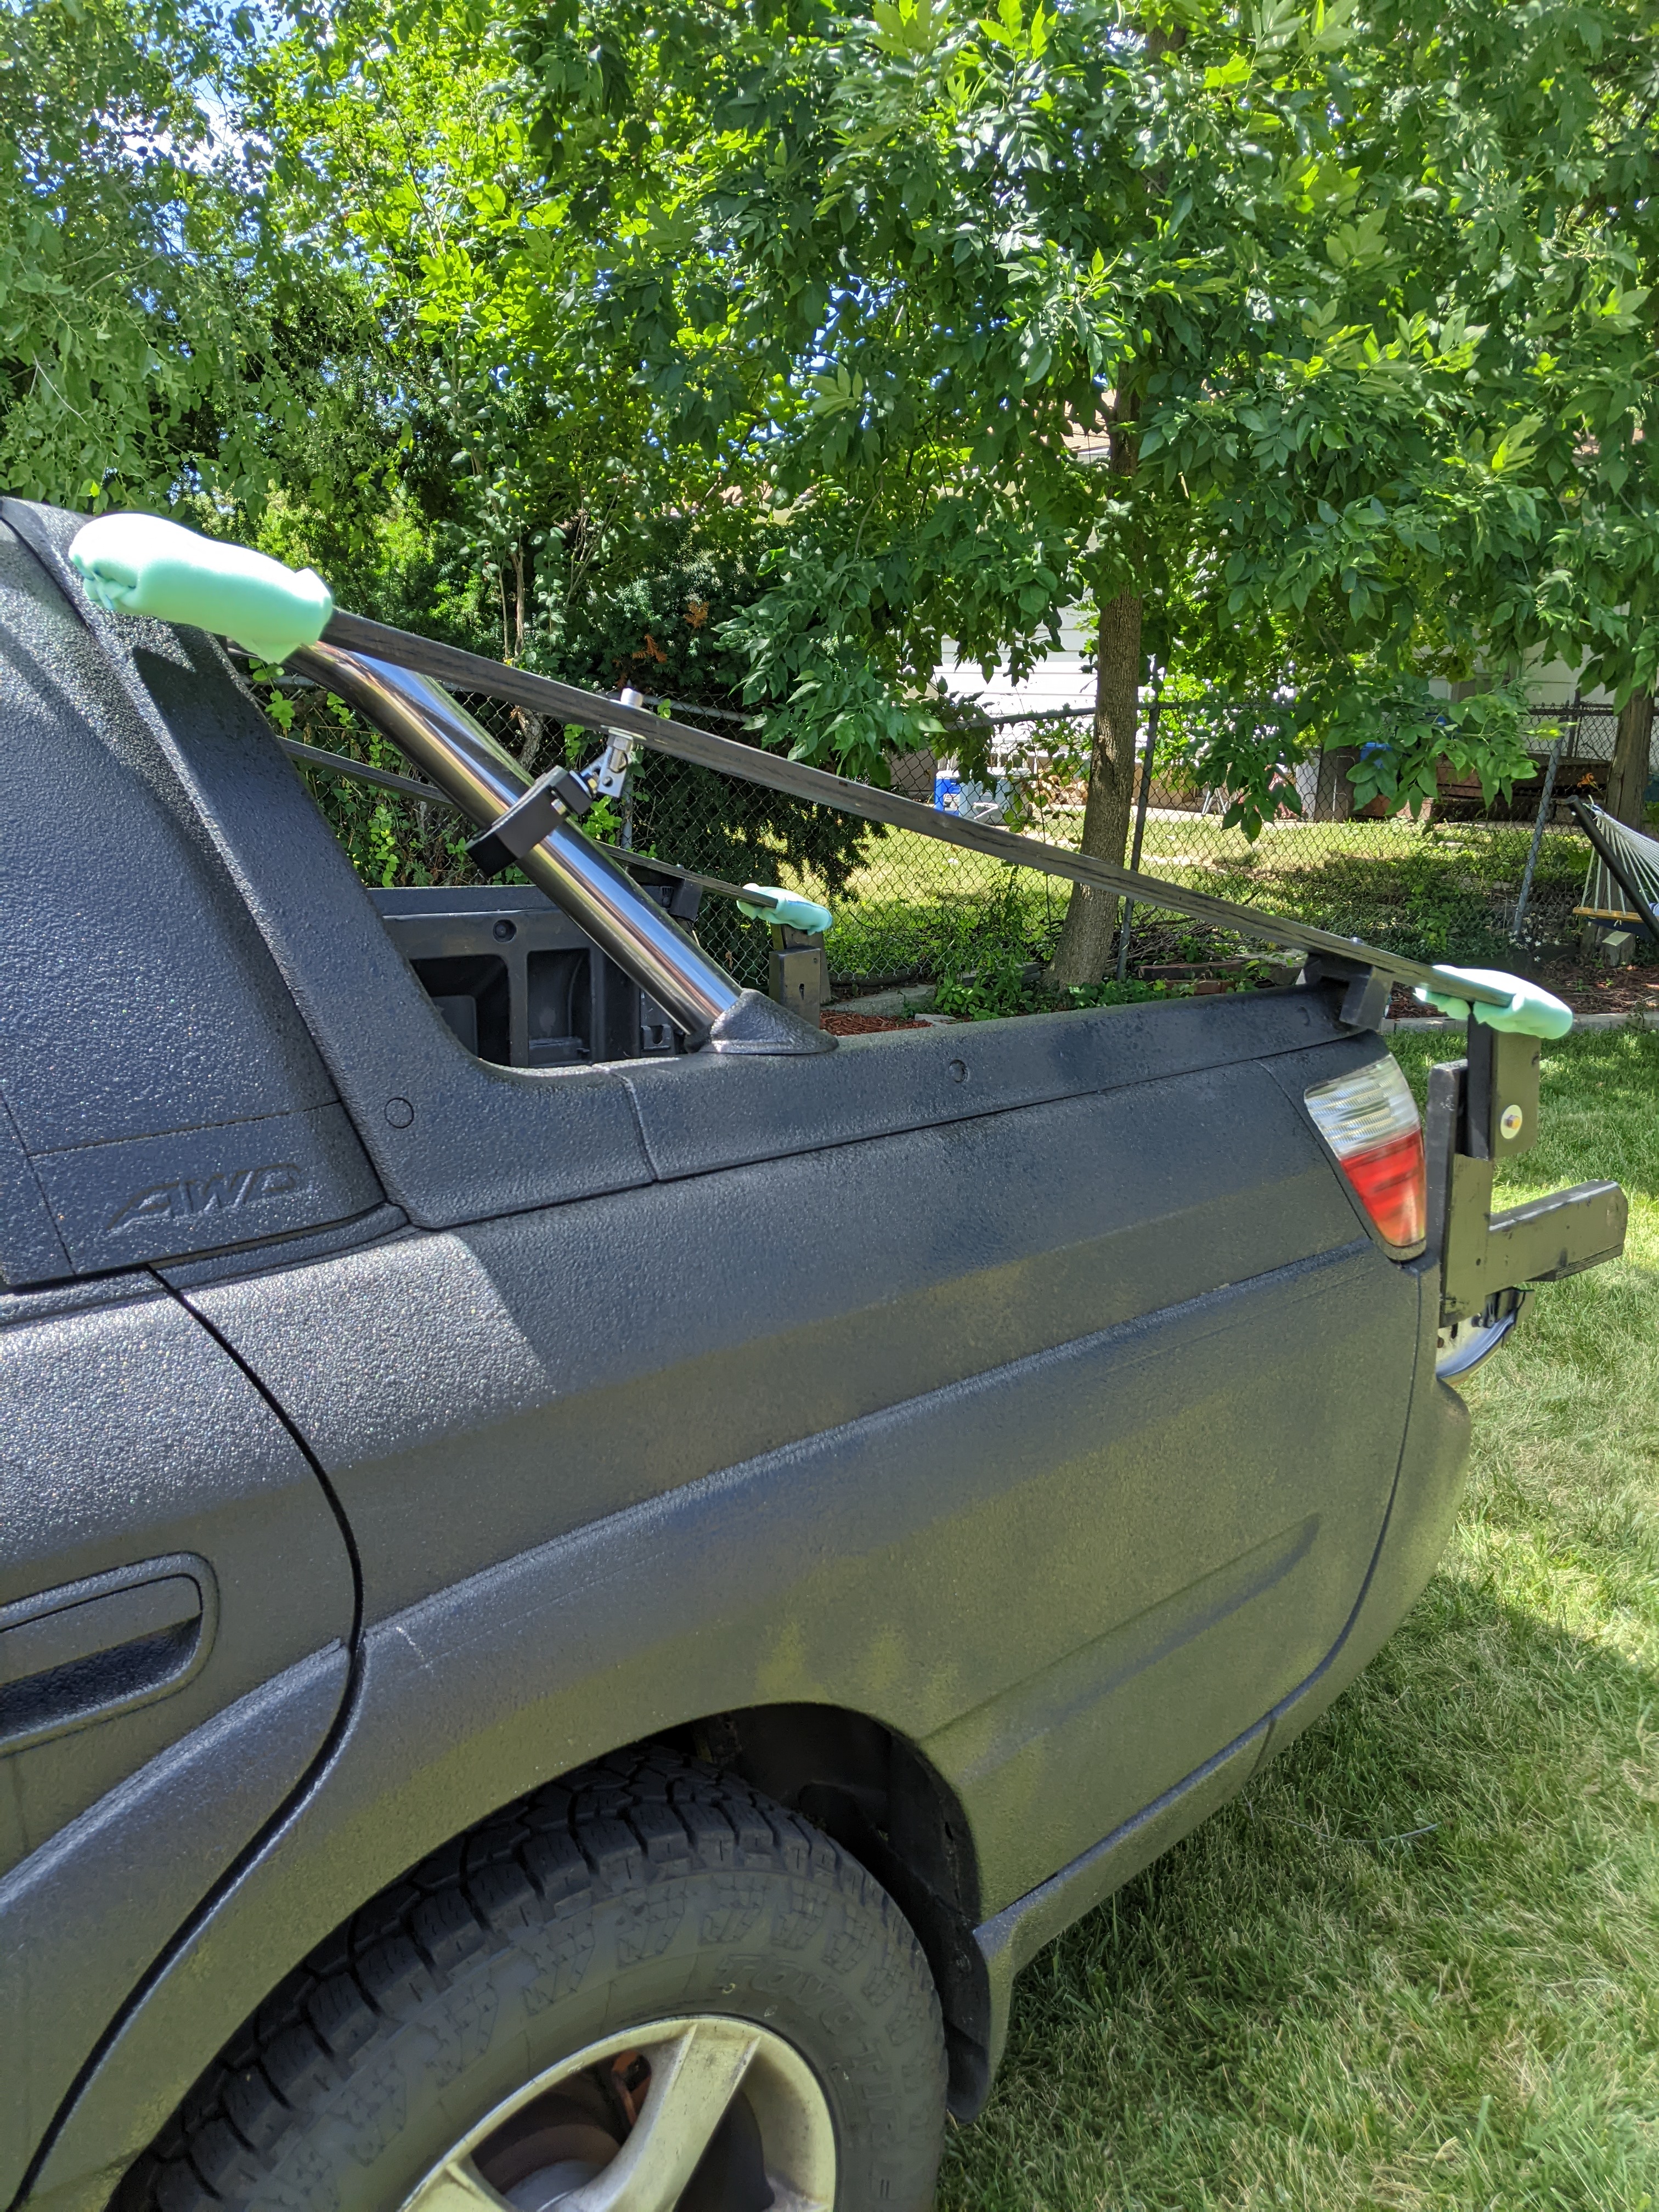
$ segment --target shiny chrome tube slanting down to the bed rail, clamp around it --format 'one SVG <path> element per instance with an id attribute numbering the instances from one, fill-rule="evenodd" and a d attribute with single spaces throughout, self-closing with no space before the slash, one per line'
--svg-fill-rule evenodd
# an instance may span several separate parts
<path id="1" fill-rule="evenodd" d="M 531 787 L 513 754 L 429 677 L 338 646 L 303 646 L 288 666 L 354 706 L 480 830 L 493 827 Z M 719 960 L 710 960 L 575 823 L 557 823 L 520 867 L 692 1044 L 701 1044 L 743 998 Z"/>

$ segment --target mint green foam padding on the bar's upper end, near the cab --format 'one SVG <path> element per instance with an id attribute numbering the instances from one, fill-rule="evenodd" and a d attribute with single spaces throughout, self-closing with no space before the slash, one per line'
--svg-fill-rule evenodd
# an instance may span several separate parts
<path id="1" fill-rule="evenodd" d="M 314 568 L 285 568 L 161 515 L 97 515 L 69 549 L 86 597 L 106 615 L 155 615 L 285 661 L 323 635 L 334 597 Z"/>

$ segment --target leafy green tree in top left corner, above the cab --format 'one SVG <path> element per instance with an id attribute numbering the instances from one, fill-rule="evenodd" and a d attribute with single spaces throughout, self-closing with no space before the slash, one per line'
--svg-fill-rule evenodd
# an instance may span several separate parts
<path id="1" fill-rule="evenodd" d="M 338 301 L 272 263 L 215 135 L 246 18 L 195 0 L 0 9 L 0 482 L 71 507 L 257 513 L 334 414 Z"/>

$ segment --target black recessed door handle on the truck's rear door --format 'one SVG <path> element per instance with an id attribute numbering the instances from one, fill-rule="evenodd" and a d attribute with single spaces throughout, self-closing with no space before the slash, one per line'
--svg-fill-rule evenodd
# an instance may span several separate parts
<path id="1" fill-rule="evenodd" d="M 0 1606 L 0 1752 L 170 1697 L 219 1624 L 195 1553 L 144 1559 Z"/>

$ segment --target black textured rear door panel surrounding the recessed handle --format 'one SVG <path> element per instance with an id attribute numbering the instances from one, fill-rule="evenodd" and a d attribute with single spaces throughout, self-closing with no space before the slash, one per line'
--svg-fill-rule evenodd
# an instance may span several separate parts
<path id="1" fill-rule="evenodd" d="M 325 1668 L 334 1688 L 321 1705 L 305 1688 L 270 1710 L 268 1732 L 239 1739 L 248 1772 L 215 1785 L 199 1820 L 186 1812 L 190 1790 L 168 1783 L 195 1772 L 188 1759 L 177 1767 L 177 1747 L 223 1743 L 201 1732 L 237 1701 L 265 1714 L 274 1677 L 343 1646 L 356 1593 L 305 1455 L 237 1363 L 150 1279 L 108 1283 L 102 1298 L 0 1298 L 0 1604 L 166 1555 L 204 1559 L 217 1597 L 212 1648 L 179 1688 L 4 1759 L 0 2017 L 15 2024 L 20 2051 L 0 2077 L 9 2194 L 135 1973 L 305 1772 L 343 1690 L 343 1657 Z M 161 1801 L 166 1816 L 119 1816 L 119 1805 Z M 111 1911 L 119 1944 L 84 1949 Z M 82 1960 L 69 1978 L 73 2002 L 64 1975 L 40 1964 L 64 1958 Z"/>

